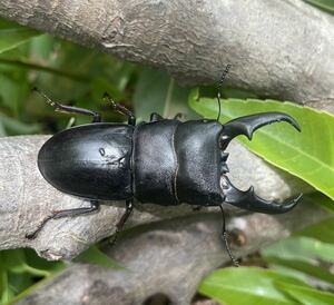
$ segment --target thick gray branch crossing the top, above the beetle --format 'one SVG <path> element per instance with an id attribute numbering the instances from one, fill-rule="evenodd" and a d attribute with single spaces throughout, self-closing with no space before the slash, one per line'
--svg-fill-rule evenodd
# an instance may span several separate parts
<path id="1" fill-rule="evenodd" d="M 232 63 L 227 86 L 333 109 L 334 19 L 301 0 L 2 0 L 0 16 L 193 86 Z"/>

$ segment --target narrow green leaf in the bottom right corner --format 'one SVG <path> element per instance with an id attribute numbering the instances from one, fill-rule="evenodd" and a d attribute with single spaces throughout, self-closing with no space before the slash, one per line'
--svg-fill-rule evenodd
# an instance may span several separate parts
<path id="1" fill-rule="evenodd" d="M 311 287 L 302 287 L 294 284 L 279 282 L 276 286 L 304 305 L 334 304 L 334 294 L 317 291 Z"/>

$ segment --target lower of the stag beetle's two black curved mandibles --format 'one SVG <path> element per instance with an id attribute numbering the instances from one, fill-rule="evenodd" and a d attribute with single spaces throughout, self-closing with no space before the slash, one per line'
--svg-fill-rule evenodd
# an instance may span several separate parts
<path id="1" fill-rule="evenodd" d="M 274 200 L 265 200 L 261 197 L 258 197 L 254 193 L 253 186 L 249 187 L 248 190 L 240 190 L 237 189 L 229 179 L 224 175 L 222 176 L 223 181 L 223 193 L 225 195 L 224 201 L 230 205 L 234 205 L 236 207 L 252 210 L 252 211 L 258 211 L 258 213 L 265 213 L 265 214 L 281 214 L 286 213 L 291 209 L 293 209 L 299 199 L 302 198 L 303 194 L 297 195 L 295 198 L 288 200 L 285 204 L 278 204 Z"/>

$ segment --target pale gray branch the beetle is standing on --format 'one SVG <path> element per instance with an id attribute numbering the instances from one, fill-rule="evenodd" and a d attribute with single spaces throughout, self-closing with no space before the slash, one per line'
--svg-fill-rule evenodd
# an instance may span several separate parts
<path id="1" fill-rule="evenodd" d="M 0 249 L 31 247 L 48 259 L 71 259 L 115 232 L 125 204 L 114 201 L 102 205 L 92 215 L 50 220 L 36 239 L 27 239 L 26 234 L 35 232 L 53 210 L 88 205 L 58 191 L 40 175 L 37 154 L 47 138 L 28 136 L 0 139 Z M 312 191 L 302 180 L 274 169 L 236 142 L 230 145 L 229 151 L 229 177 L 243 189 L 247 189 L 252 183 L 258 195 L 268 199 Z M 139 205 L 138 209 L 130 218 L 129 227 L 193 213 L 186 205 Z M 308 220 L 304 220 L 307 224 Z"/>

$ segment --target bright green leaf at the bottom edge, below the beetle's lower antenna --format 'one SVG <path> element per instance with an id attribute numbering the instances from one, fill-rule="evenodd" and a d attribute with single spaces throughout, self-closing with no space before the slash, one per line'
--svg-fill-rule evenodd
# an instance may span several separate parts
<path id="1" fill-rule="evenodd" d="M 198 291 L 226 305 L 295 304 L 275 286 L 275 282 L 306 286 L 302 281 L 278 272 L 256 267 L 230 267 L 212 273 Z"/>

